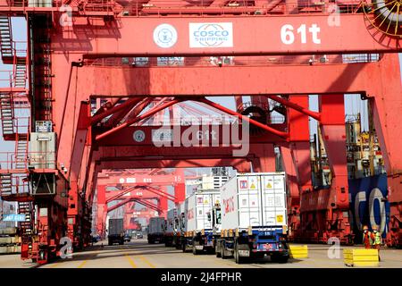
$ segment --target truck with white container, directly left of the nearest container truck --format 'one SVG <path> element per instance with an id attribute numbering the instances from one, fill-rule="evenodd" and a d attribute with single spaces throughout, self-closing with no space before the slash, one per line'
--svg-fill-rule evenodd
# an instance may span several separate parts
<path id="1" fill-rule="evenodd" d="M 214 253 L 214 244 L 221 234 L 221 194 L 219 189 L 202 189 L 186 198 L 185 232 L 181 248 Z"/>

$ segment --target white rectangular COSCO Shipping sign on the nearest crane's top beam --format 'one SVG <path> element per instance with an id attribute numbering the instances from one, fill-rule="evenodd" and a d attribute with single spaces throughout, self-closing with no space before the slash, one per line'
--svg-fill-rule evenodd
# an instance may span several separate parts
<path id="1" fill-rule="evenodd" d="M 189 23 L 190 47 L 232 47 L 232 23 Z"/>

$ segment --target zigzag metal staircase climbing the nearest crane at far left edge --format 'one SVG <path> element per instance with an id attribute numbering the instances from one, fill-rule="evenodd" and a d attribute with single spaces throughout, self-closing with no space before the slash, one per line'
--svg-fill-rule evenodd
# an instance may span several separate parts
<path id="1" fill-rule="evenodd" d="M 15 7 L 26 6 L 26 0 L 13 0 Z M 0 93 L 0 120 L 2 122 L 5 140 L 15 140 L 13 156 L 7 157 L 9 171 L 0 173 L 0 196 L 5 200 L 18 202 L 18 213 L 25 215 L 21 227 L 21 258 L 37 259 L 38 251 L 34 245 L 35 214 L 33 197 L 29 192 L 28 151 L 29 151 L 29 119 L 28 126 L 21 124 L 22 118 L 14 114 L 14 98 L 27 95 L 27 52 L 18 49 L 13 41 L 11 18 L 0 16 L 0 52 L 4 64 L 13 64 L 13 74 L 10 77 L 9 90 L 3 88 Z M 18 103 L 16 104 L 18 105 Z"/>

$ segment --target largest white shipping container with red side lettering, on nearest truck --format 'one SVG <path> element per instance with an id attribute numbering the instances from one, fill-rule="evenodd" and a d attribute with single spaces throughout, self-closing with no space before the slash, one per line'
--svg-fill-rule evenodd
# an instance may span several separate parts
<path id="1" fill-rule="evenodd" d="M 222 230 L 287 224 L 284 172 L 238 173 L 221 188 Z"/>

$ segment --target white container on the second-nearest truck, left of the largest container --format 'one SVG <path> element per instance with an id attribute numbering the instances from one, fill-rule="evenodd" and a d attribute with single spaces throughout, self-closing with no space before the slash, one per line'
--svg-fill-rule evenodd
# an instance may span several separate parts
<path id="1" fill-rule="evenodd" d="M 221 204 L 221 195 L 217 189 L 196 192 L 186 198 L 186 231 L 212 230 L 216 204 Z"/>

